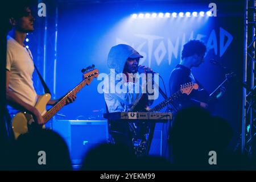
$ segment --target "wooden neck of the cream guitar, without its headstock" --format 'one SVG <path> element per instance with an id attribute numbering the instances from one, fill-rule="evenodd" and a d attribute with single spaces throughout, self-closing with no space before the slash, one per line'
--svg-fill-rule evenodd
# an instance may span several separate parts
<path id="1" fill-rule="evenodd" d="M 49 121 L 65 104 L 67 101 L 67 97 L 71 96 L 72 94 L 78 93 L 84 86 L 86 82 L 83 80 L 78 84 L 73 90 L 67 93 L 56 105 L 54 105 L 50 110 L 47 111 L 46 114 L 43 115 L 44 124 Z"/>

